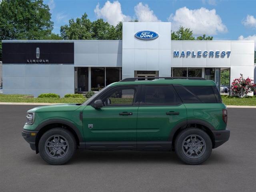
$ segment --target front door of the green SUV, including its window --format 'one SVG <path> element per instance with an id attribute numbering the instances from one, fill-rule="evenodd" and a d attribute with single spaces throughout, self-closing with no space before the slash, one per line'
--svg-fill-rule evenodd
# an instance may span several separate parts
<path id="1" fill-rule="evenodd" d="M 102 108 L 86 106 L 83 111 L 84 138 L 87 148 L 136 148 L 138 102 L 140 86 L 116 86 L 95 100 Z"/>

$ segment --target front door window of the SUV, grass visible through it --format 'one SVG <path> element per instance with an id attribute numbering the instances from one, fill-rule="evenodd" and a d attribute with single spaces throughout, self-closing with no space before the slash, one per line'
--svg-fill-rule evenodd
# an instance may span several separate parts
<path id="1" fill-rule="evenodd" d="M 101 97 L 104 106 L 129 106 L 133 105 L 136 88 L 122 86 L 109 90 Z"/>

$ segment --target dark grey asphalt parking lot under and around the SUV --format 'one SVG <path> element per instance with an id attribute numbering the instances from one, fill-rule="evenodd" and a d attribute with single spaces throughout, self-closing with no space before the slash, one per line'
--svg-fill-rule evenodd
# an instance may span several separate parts
<path id="1" fill-rule="evenodd" d="M 77 151 L 52 166 L 22 138 L 26 111 L 0 105 L 1 192 L 136 192 L 256 190 L 256 108 L 229 108 L 230 140 L 202 165 L 185 165 L 174 152 Z"/>

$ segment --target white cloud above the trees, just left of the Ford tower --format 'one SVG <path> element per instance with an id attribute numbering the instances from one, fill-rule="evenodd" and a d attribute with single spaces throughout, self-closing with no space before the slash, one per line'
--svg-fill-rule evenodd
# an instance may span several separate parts
<path id="1" fill-rule="evenodd" d="M 130 16 L 122 14 L 121 4 L 118 1 L 114 1 L 113 3 L 107 1 L 102 8 L 100 8 L 100 4 L 98 3 L 94 9 L 94 13 L 97 18 L 103 18 L 114 26 L 120 21 L 131 20 Z"/>

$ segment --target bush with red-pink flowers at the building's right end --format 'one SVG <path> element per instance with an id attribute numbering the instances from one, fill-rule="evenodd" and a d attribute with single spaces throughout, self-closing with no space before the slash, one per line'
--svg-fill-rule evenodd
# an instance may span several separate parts
<path id="1" fill-rule="evenodd" d="M 240 74 L 240 78 L 234 79 L 231 84 L 232 95 L 244 97 L 250 92 L 256 90 L 256 84 L 250 78 L 245 79 L 243 74 Z"/>

